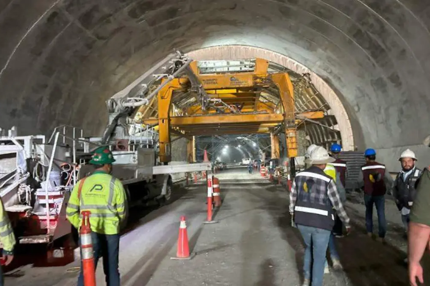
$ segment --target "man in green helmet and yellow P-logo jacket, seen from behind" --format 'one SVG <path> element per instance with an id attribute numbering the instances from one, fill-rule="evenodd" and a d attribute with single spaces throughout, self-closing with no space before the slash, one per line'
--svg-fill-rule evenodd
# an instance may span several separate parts
<path id="1" fill-rule="evenodd" d="M 94 261 L 97 267 L 99 258 L 103 257 L 107 286 L 119 286 L 119 228 L 125 219 L 126 203 L 121 181 L 110 175 L 114 161 L 108 148 L 96 149 L 90 161 L 96 171 L 77 182 L 66 209 L 67 219 L 77 229 L 81 225 L 79 213 L 91 212 Z M 82 269 L 77 285 L 83 286 Z"/>

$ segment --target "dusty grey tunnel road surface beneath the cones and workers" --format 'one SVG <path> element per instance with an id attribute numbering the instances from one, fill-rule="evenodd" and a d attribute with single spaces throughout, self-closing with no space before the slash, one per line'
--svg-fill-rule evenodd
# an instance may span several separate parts
<path id="1" fill-rule="evenodd" d="M 286 188 L 256 172 L 249 175 L 245 168 L 216 176 L 224 199 L 214 217 L 219 223 L 203 224 L 206 187 L 203 183 L 189 186 L 176 201 L 144 216 L 121 237 L 121 285 L 300 285 L 304 247 L 300 234 L 290 226 Z M 382 245 L 365 234 L 361 196 L 349 197 L 353 232 L 336 240 L 344 270 L 325 274 L 324 285 L 407 285 L 407 269 L 401 263 L 406 243 L 394 204 L 386 203 L 388 244 Z M 176 254 L 182 215 L 187 218 L 190 249 L 197 254 L 190 261 L 169 259 Z M 67 272 L 74 266 L 78 262 L 61 267 L 26 265 L 8 273 L 6 285 L 75 285 L 77 272 Z M 98 285 L 105 284 L 101 266 Z"/>

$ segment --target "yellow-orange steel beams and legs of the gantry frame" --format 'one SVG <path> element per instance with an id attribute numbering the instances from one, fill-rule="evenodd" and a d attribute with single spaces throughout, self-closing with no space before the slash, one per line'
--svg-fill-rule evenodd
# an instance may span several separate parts
<path id="1" fill-rule="evenodd" d="M 255 59 L 252 72 L 200 74 L 197 62 L 190 64 L 203 89 L 210 98 L 221 99 L 232 108 L 240 106 L 240 113 L 229 108 L 224 114 L 216 110 L 202 110 L 196 104 L 184 110 L 186 116 L 175 116 L 171 112 L 173 94 L 187 91 L 188 78 L 175 78 L 158 92 L 158 117 L 142 118 L 142 123 L 158 125 L 161 162 L 170 161 L 170 132 L 188 138 L 188 160 L 195 160 L 194 136 L 271 133 L 272 157 L 279 158 L 279 137 L 273 134 L 276 126 L 283 124 L 288 157 L 297 156 L 296 115 L 294 114 L 293 86 L 287 73 L 268 73 L 269 62 Z M 275 85 L 279 91 L 279 103 L 265 100 L 262 89 Z M 220 105 L 221 107 L 221 105 Z M 322 118 L 321 111 L 299 114 L 307 118 Z"/>

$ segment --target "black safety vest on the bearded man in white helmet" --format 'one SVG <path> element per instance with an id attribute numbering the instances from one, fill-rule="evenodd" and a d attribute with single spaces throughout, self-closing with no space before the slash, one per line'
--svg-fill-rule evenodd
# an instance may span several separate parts
<path id="1" fill-rule="evenodd" d="M 415 168 L 414 171 L 403 181 L 403 174 L 399 173 L 396 178 L 396 199 L 399 201 L 398 208 L 401 210 L 403 207 L 410 209 L 410 201 L 414 201 L 416 196 L 416 181 L 421 176 L 421 170 Z"/>

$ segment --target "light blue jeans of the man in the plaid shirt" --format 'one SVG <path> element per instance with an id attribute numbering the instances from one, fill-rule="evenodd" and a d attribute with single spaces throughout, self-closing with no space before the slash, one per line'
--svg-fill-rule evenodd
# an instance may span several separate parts
<path id="1" fill-rule="evenodd" d="M 312 286 L 322 286 L 324 276 L 325 254 L 327 252 L 330 230 L 297 224 L 297 228 L 305 241 L 305 261 L 303 272 L 305 279 L 311 280 Z M 312 250 L 311 250 L 312 247 Z M 312 252 L 312 254 L 311 254 Z"/>

